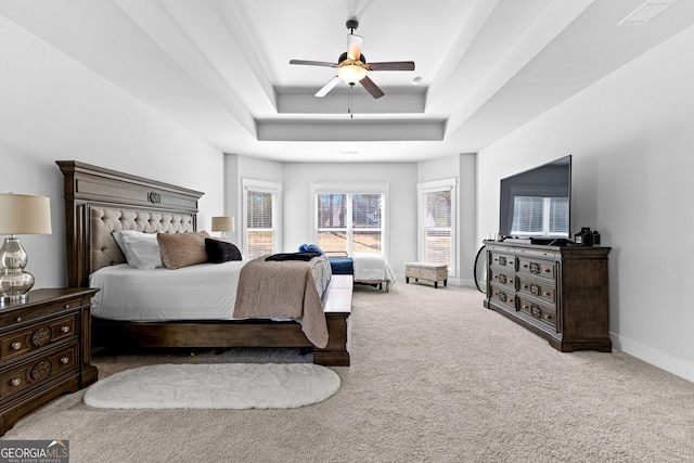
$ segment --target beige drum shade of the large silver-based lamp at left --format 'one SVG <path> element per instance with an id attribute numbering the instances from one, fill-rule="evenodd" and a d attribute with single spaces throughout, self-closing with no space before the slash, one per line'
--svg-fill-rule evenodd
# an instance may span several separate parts
<path id="1" fill-rule="evenodd" d="M 50 234 L 51 202 L 46 196 L 0 193 L 0 234 Z"/>

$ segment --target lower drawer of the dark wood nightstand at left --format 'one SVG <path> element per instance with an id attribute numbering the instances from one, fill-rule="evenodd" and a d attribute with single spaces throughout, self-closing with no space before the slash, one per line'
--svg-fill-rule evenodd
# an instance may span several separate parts
<path id="1" fill-rule="evenodd" d="M 51 378 L 76 369 L 78 349 L 79 344 L 75 342 L 53 353 L 27 360 L 0 374 L 0 400 L 5 401 L 24 389 L 48 383 Z"/>

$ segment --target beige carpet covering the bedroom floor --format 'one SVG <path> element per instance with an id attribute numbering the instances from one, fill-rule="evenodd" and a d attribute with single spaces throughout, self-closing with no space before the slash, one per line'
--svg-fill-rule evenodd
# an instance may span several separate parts
<path id="1" fill-rule="evenodd" d="M 692 462 L 694 384 L 624 353 L 561 353 L 475 290 L 355 291 L 352 366 L 290 410 L 101 410 L 82 393 L 5 439 L 69 439 L 70 462 Z M 141 364 L 307 361 L 294 349 L 94 356 Z"/>

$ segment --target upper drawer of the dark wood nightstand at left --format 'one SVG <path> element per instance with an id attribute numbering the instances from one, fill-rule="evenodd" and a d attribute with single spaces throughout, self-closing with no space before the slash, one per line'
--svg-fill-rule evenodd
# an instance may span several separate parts
<path id="1" fill-rule="evenodd" d="M 78 314 L 72 313 L 28 326 L 23 324 L 17 330 L 4 333 L 0 338 L 0 364 L 75 336 Z"/>

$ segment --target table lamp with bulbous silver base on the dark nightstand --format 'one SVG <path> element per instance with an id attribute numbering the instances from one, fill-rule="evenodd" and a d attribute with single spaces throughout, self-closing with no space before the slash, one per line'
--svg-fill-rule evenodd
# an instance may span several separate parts
<path id="1" fill-rule="evenodd" d="M 51 205 L 46 196 L 0 193 L 0 234 L 9 234 L 0 248 L 0 306 L 25 300 L 34 275 L 24 271 L 26 252 L 15 234 L 50 234 Z"/>

